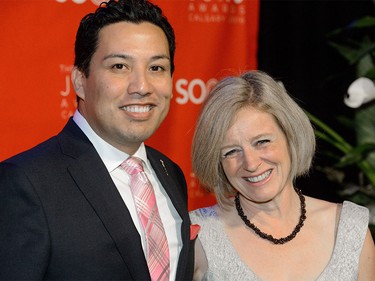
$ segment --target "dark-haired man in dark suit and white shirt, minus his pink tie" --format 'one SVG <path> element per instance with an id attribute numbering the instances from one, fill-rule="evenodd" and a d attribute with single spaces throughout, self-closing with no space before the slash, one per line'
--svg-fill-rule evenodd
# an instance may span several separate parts
<path id="1" fill-rule="evenodd" d="M 121 165 L 141 159 L 169 248 L 169 276 L 191 280 L 181 169 L 144 145 L 169 110 L 174 32 L 142 0 L 85 16 L 72 83 L 78 110 L 63 130 L 0 164 L 1 280 L 151 280 L 146 234 Z"/>

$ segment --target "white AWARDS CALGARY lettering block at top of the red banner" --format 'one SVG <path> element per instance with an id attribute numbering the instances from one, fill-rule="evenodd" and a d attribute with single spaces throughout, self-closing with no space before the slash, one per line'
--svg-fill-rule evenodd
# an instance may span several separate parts
<path id="1" fill-rule="evenodd" d="M 245 24 L 245 0 L 189 0 L 188 19 L 200 23 Z"/>

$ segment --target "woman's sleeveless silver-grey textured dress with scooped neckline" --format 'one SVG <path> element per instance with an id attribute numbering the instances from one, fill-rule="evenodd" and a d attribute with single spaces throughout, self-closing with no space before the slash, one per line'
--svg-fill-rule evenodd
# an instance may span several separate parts
<path id="1" fill-rule="evenodd" d="M 261 281 L 237 255 L 213 206 L 194 210 L 190 217 L 201 226 L 199 239 L 208 260 L 205 281 Z M 317 281 L 357 280 L 368 222 L 367 208 L 344 201 L 333 254 Z"/>

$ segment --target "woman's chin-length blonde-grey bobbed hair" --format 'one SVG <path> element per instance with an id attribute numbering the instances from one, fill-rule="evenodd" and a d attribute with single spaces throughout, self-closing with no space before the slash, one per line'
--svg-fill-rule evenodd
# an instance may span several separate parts
<path id="1" fill-rule="evenodd" d="M 219 81 L 198 116 L 192 143 L 193 172 L 202 187 L 214 192 L 219 204 L 235 195 L 221 166 L 220 148 L 233 117 L 244 107 L 271 114 L 285 134 L 291 159 L 290 179 L 306 174 L 315 153 L 309 118 L 285 88 L 262 71 L 249 71 Z"/>

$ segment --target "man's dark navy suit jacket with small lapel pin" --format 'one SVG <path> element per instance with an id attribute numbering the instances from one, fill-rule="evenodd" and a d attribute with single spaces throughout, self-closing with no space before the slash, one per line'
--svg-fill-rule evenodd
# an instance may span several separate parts
<path id="1" fill-rule="evenodd" d="M 192 280 L 185 178 L 166 156 L 146 149 L 183 220 L 176 279 Z M 21 279 L 150 280 L 129 211 L 73 120 L 57 136 L 0 163 L 0 280 Z"/>

